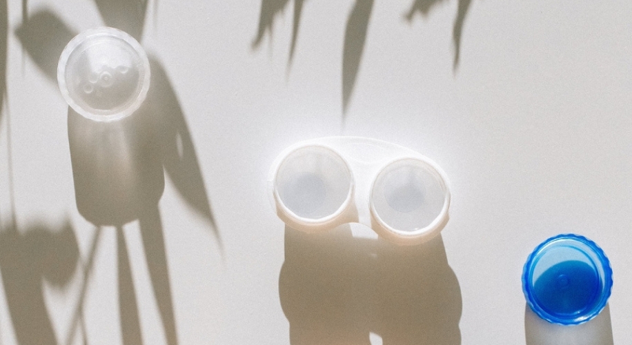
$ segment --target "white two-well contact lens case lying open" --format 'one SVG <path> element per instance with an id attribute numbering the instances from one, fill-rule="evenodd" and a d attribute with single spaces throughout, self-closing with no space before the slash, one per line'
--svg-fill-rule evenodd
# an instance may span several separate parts
<path id="1" fill-rule="evenodd" d="M 268 175 L 285 224 L 308 233 L 346 223 L 401 245 L 426 242 L 448 221 L 443 170 L 418 152 L 362 137 L 326 137 L 286 148 Z"/>

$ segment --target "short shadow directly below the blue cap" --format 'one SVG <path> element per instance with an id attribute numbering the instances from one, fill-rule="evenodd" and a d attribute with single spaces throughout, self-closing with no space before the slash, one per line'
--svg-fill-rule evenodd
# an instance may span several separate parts
<path id="1" fill-rule="evenodd" d="M 551 324 L 541 319 L 525 304 L 524 333 L 526 345 L 613 345 L 610 307 L 591 321 L 573 326 Z"/>

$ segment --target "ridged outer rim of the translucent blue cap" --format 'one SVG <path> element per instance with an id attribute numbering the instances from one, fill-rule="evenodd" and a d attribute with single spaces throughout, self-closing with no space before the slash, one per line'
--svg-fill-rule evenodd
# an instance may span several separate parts
<path id="1" fill-rule="evenodd" d="M 544 250 L 546 246 L 549 246 L 549 244 L 557 242 L 561 239 L 571 239 L 588 246 L 591 250 L 593 250 L 593 253 L 595 253 L 595 255 L 599 259 L 599 262 L 593 263 L 595 265 L 601 264 L 604 270 L 604 277 L 599 277 L 600 281 L 604 281 L 604 290 L 601 293 L 600 301 L 595 304 L 593 308 L 587 309 L 585 313 L 575 315 L 572 318 L 552 315 L 551 313 L 545 311 L 544 308 L 540 306 L 540 304 L 537 304 L 537 299 L 535 298 L 535 295 L 532 291 L 531 284 L 529 284 L 532 280 L 531 276 L 533 275 L 533 268 L 535 268 L 535 264 L 537 264 L 537 262 L 535 262 L 536 257 L 540 255 L 540 253 L 542 252 L 542 250 Z M 577 250 L 584 251 L 580 248 L 577 248 Z M 599 315 L 599 313 L 601 313 L 603 308 L 608 303 L 608 299 L 610 298 L 610 295 L 612 293 L 612 286 L 612 267 L 610 265 L 610 260 L 606 256 L 606 253 L 604 253 L 604 250 L 602 250 L 602 248 L 600 248 L 598 244 L 582 235 L 561 234 L 546 239 L 544 242 L 535 247 L 531 254 L 529 254 L 529 257 L 526 259 L 524 267 L 522 268 L 522 293 L 524 293 L 526 303 L 529 304 L 529 307 L 536 315 L 553 324 L 573 325 L 583 324 L 584 322 L 590 321 L 591 319 Z"/>

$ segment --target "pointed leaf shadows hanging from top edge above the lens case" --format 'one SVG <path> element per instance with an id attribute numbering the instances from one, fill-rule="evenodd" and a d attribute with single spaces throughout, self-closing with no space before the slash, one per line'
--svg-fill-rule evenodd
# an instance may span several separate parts
<path id="1" fill-rule="evenodd" d="M 294 57 L 305 1 L 306 0 L 293 1 L 293 26 L 288 67 L 291 66 Z M 417 12 L 422 14 L 422 17 L 426 17 L 433 6 L 443 1 L 448 0 L 415 0 L 410 10 L 406 12 L 404 17 L 409 23 L 413 21 L 415 13 Z M 458 0 L 457 4 L 457 15 L 452 32 L 454 44 L 453 70 L 455 71 L 457 70 L 460 61 L 463 24 L 470 8 L 471 1 L 472 0 Z M 353 9 L 347 19 L 346 31 L 344 34 L 344 47 L 342 50 L 343 121 L 348 110 L 351 95 L 353 95 L 359 66 L 362 62 L 364 43 L 366 42 L 366 32 L 368 30 L 369 20 L 371 19 L 371 12 L 373 12 L 373 2 L 374 0 L 355 0 Z M 253 49 L 261 46 L 266 32 L 270 34 L 270 36 L 272 35 L 277 15 L 282 14 L 289 3 L 290 0 L 261 0 L 261 14 L 259 14 L 259 26 L 253 41 Z"/>

